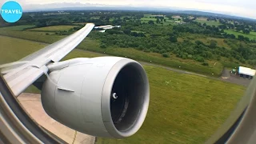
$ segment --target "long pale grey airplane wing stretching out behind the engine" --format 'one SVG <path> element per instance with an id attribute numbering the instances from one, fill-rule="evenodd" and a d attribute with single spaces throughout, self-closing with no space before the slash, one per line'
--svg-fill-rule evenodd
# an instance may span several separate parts
<path id="1" fill-rule="evenodd" d="M 42 74 L 48 71 L 46 65 L 50 62 L 59 62 L 62 58 L 69 54 L 94 28 L 93 23 L 88 23 L 81 30 L 62 40 L 46 46 L 42 50 L 38 50 L 34 54 L 30 54 L 26 58 L 22 58 L 15 67 L 9 70 L 2 70 L 3 77 L 14 93 L 18 96 L 28 86 L 33 84 Z"/>

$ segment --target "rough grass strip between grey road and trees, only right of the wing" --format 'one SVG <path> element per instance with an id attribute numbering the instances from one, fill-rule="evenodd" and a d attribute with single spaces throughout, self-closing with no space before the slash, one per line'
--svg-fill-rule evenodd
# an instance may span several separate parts
<path id="1" fill-rule="evenodd" d="M 106 53 L 110 55 L 122 56 L 133 58 L 135 60 L 140 60 L 144 62 L 153 62 L 163 66 L 170 66 L 174 68 L 182 68 L 183 70 L 194 71 L 201 74 L 208 75 L 219 75 L 222 72 L 222 67 L 215 66 L 202 66 L 198 62 L 193 60 L 183 60 L 181 58 L 176 58 L 171 56 L 170 58 L 162 58 L 161 54 L 156 53 L 146 53 L 141 50 L 134 50 L 133 48 L 120 49 L 119 47 L 108 47 L 106 49 L 99 48 L 99 42 L 95 42 L 90 38 L 86 38 L 78 47 L 82 50 L 92 50 L 100 53 Z M 181 66 L 181 67 L 180 67 Z"/>

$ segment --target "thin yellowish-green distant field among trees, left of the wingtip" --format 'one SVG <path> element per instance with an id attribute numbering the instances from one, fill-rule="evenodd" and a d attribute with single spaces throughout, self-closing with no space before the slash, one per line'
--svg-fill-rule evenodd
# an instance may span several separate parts
<path id="1" fill-rule="evenodd" d="M 47 26 L 47 27 L 40 27 L 40 28 L 30 29 L 30 31 L 54 32 L 54 31 L 70 30 L 72 28 L 74 28 L 74 26 Z"/>

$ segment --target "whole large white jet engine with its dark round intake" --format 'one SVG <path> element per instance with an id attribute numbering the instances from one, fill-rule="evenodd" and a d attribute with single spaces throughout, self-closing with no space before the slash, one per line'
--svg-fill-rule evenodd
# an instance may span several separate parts
<path id="1" fill-rule="evenodd" d="M 42 106 L 51 118 L 74 130 L 126 138 L 146 118 L 150 86 L 145 70 L 134 60 L 85 58 L 54 70 L 50 79 L 42 86 Z"/>

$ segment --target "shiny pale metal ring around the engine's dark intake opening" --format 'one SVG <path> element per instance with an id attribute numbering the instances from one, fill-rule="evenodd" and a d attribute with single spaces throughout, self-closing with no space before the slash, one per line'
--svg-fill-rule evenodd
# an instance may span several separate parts
<path id="1" fill-rule="evenodd" d="M 140 71 L 141 77 L 144 81 L 144 85 L 146 87 L 145 96 L 143 97 L 143 102 L 141 106 L 141 110 L 138 113 L 138 118 L 133 123 L 131 128 L 125 131 L 117 130 L 117 128 L 114 126 L 114 122 L 111 118 L 111 112 L 110 112 L 110 94 L 112 90 L 112 86 L 114 85 L 114 81 L 116 77 L 118 76 L 119 72 L 128 65 L 134 65 L 136 66 L 136 69 Z M 140 65 L 138 62 L 135 62 L 134 60 L 131 60 L 129 58 L 123 58 L 122 60 L 118 61 L 110 70 L 109 74 L 107 75 L 103 90 L 102 90 L 102 121 L 104 123 L 104 126 L 106 127 L 106 130 L 112 135 L 114 138 L 126 138 L 133 134 L 135 134 L 139 128 L 142 126 L 142 123 L 144 122 L 146 118 L 146 113 L 148 110 L 148 106 L 150 103 L 150 86 L 148 82 L 148 78 L 146 76 L 146 72 L 143 69 L 142 65 Z"/>

